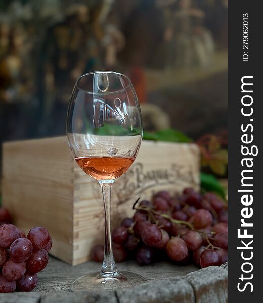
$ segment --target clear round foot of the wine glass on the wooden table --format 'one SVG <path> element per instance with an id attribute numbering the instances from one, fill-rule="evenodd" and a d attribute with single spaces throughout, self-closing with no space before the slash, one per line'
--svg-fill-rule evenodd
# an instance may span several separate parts
<path id="1" fill-rule="evenodd" d="M 132 287 L 145 282 L 147 280 L 143 276 L 127 271 L 121 271 L 112 276 L 91 273 L 76 279 L 70 286 L 70 291 L 114 290 L 123 287 Z"/>

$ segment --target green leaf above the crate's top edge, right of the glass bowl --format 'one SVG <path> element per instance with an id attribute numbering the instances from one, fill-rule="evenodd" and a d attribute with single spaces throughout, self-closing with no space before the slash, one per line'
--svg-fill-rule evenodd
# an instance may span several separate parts
<path id="1" fill-rule="evenodd" d="M 146 132 L 144 133 L 143 139 L 178 143 L 192 142 L 192 139 L 174 129 L 163 129 L 154 134 Z"/>

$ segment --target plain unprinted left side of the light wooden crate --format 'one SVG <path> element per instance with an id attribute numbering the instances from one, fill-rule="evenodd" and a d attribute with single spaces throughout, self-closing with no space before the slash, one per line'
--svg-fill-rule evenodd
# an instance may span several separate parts
<path id="1" fill-rule="evenodd" d="M 53 238 L 52 254 L 69 263 L 73 258 L 73 178 L 64 137 L 3 145 L 3 205 L 25 232 L 45 226 Z"/>

